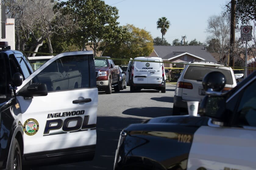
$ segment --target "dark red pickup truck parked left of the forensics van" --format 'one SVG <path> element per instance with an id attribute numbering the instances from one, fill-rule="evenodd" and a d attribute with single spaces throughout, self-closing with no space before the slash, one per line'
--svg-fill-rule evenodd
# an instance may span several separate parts
<path id="1" fill-rule="evenodd" d="M 119 69 L 115 66 L 113 60 L 94 59 L 96 71 L 96 83 L 99 91 L 105 91 L 106 94 L 112 93 L 112 87 L 116 92 L 120 91 L 119 86 Z"/>

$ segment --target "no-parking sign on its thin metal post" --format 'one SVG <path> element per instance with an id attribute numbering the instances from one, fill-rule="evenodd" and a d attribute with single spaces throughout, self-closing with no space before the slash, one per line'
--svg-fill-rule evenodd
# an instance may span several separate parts
<path id="1" fill-rule="evenodd" d="M 241 40 L 245 41 L 244 78 L 247 77 L 247 41 L 251 41 L 252 26 L 241 26 Z"/>

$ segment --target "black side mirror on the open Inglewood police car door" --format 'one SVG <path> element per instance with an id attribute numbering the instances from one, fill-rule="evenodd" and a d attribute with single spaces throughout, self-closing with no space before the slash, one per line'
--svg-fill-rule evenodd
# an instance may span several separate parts
<path id="1" fill-rule="evenodd" d="M 21 89 L 17 95 L 24 98 L 33 98 L 33 96 L 47 96 L 48 91 L 45 83 L 33 83 L 27 88 Z"/>

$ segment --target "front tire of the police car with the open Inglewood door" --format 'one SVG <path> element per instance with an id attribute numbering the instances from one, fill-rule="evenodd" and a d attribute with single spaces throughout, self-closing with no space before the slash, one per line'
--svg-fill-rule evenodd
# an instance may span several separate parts
<path id="1" fill-rule="evenodd" d="M 20 145 L 16 138 L 14 138 L 11 145 L 11 151 L 10 151 L 10 157 L 9 157 L 7 169 L 22 170 Z"/>

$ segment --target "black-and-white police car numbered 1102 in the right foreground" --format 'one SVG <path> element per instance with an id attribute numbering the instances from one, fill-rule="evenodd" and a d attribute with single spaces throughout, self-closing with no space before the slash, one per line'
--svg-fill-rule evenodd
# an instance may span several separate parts
<path id="1" fill-rule="evenodd" d="M 114 170 L 256 169 L 256 72 L 226 94 L 226 76 L 212 73 L 204 82 L 204 116 L 129 125 L 120 133 Z"/>

